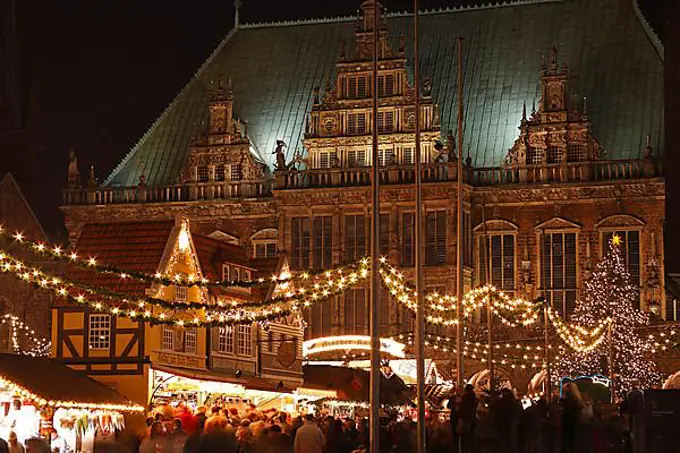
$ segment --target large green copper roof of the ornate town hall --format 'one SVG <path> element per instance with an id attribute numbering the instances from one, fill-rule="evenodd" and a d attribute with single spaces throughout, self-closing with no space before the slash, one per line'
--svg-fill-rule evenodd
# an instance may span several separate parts
<path id="1" fill-rule="evenodd" d="M 663 56 L 635 0 L 523 1 L 496 7 L 426 12 L 421 75 L 433 83 L 442 133 L 456 125 L 456 36 L 464 42 L 465 149 L 476 167 L 497 166 L 512 146 L 522 113 L 539 100 L 540 66 L 555 46 L 570 68 L 572 98 L 588 98 L 593 132 L 613 159 L 641 157 L 646 137 L 663 149 Z M 359 1 L 357 0 L 357 4 Z M 411 40 L 412 17 L 389 20 L 396 46 Z M 246 25 L 232 30 L 106 181 L 172 184 L 196 124 L 207 117 L 210 81 L 230 77 L 235 116 L 248 123 L 256 154 L 272 162 L 277 139 L 301 147 L 315 86 L 333 76 L 351 18 Z M 410 58 L 410 51 L 408 49 Z"/>

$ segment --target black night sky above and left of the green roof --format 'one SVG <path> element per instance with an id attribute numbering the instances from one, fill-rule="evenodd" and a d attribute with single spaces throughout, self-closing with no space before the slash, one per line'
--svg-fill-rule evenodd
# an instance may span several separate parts
<path id="1" fill-rule="evenodd" d="M 664 1 L 643 4 L 654 24 L 661 23 Z M 421 0 L 421 8 L 478 2 Z M 349 15 L 359 3 L 244 0 L 241 17 Z M 412 1 L 384 3 L 391 11 L 412 7 Z M 84 178 L 93 164 L 103 180 L 229 31 L 233 10 L 231 0 L 34 1 L 28 25 L 37 165 L 27 192 L 55 239 L 63 229 L 57 207 L 68 150 L 78 153 Z"/>

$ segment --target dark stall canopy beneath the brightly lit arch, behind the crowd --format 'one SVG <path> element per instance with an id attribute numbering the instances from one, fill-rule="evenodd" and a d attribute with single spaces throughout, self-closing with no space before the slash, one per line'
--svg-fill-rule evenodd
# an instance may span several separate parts
<path id="1" fill-rule="evenodd" d="M 303 387 L 317 390 L 335 390 L 339 400 L 368 401 L 370 373 L 359 368 L 332 365 L 306 365 Z M 380 402 L 390 405 L 408 404 L 413 392 L 404 381 L 392 374 L 389 378 L 380 374 Z"/>

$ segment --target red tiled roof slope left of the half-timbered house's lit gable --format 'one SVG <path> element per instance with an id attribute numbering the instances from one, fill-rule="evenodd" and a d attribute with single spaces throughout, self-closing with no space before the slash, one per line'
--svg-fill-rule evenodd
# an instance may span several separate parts
<path id="1" fill-rule="evenodd" d="M 120 269 L 153 274 L 161 262 L 173 227 L 172 221 L 88 223 L 78 239 L 76 252 Z M 113 274 L 80 269 L 72 269 L 70 277 L 136 296 L 143 296 L 149 287 L 137 280 L 122 281 Z"/>

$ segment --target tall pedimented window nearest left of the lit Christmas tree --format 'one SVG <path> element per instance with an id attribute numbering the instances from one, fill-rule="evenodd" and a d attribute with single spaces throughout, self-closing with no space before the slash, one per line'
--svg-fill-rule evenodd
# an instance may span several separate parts
<path id="1" fill-rule="evenodd" d="M 576 233 L 544 233 L 542 272 L 546 299 L 569 318 L 576 305 Z"/>

